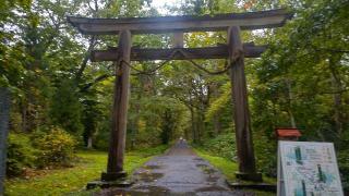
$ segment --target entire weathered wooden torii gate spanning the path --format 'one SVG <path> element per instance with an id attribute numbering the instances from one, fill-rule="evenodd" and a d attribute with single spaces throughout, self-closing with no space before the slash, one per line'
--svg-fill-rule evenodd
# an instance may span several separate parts
<path id="1" fill-rule="evenodd" d="M 252 143 L 250 112 L 248 105 L 244 57 L 256 58 L 265 50 L 263 46 L 242 44 L 240 29 L 260 29 L 282 26 L 291 17 L 286 10 L 217 14 L 214 16 L 164 16 L 130 19 L 87 19 L 68 16 L 68 21 L 85 35 L 119 35 L 118 48 L 95 50 L 92 61 L 116 61 L 116 82 L 112 125 L 109 144 L 107 172 L 103 181 L 115 181 L 125 176 L 123 158 L 125 148 L 128 91 L 130 61 L 144 60 L 192 60 L 228 59 L 232 99 L 234 103 L 234 126 L 239 171 L 237 177 L 262 181 L 256 171 Z M 183 33 L 227 30 L 228 42 L 207 48 L 183 48 Z M 133 34 L 173 33 L 176 48 L 140 49 L 132 48 Z M 180 51 L 180 52 L 177 52 Z"/>

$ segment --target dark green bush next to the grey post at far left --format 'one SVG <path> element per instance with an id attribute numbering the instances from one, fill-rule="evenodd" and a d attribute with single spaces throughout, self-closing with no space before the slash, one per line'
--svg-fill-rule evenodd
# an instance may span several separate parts
<path id="1" fill-rule="evenodd" d="M 23 134 L 9 134 L 7 175 L 17 176 L 24 173 L 26 168 L 34 168 L 36 154 L 29 137 Z"/>

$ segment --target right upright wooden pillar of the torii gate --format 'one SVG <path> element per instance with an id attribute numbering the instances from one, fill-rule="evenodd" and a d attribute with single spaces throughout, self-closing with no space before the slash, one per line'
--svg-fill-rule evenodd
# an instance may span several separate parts
<path id="1" fill-rule="evenodd" d="M 228 29 L 228 47 L 239 161 L 237 177 L 250 181 L 262 181 L 262 175 L 256 172 L 255 168 L 240 27 L 232 26 Z"/>

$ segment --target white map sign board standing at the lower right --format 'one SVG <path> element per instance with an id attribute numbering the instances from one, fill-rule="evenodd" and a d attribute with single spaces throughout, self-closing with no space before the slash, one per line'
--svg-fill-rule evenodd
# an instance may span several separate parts
<path id="1" fill-rule="evenodd" d="M 279 142 L 278 196 L 344 196 L 332 143 Z"/>

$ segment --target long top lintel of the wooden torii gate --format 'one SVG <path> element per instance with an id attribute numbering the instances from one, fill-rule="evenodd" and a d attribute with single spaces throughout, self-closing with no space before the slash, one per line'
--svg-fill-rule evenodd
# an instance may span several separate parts
<path id="1" fill-rule="evenodd" d="M 217 15 L 159 17 L 89 19 L 68 16 L 68 22 L 85 35 L 161 34 L 171 32 L 217 32 L 229 26 L 241 29 L 279 27 L 292 16 L 285 9 Z"/>

